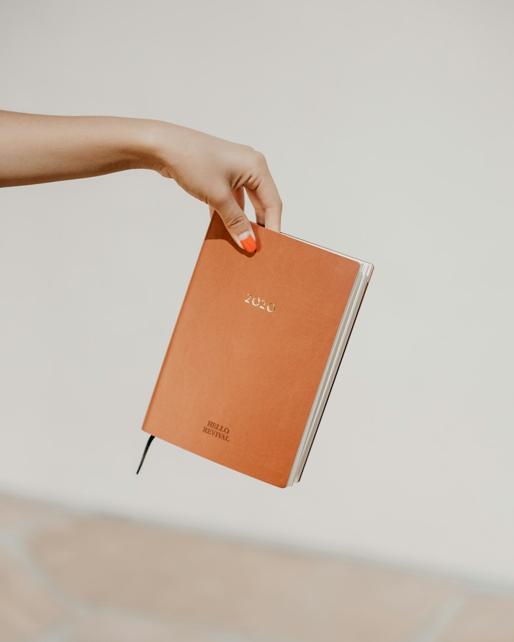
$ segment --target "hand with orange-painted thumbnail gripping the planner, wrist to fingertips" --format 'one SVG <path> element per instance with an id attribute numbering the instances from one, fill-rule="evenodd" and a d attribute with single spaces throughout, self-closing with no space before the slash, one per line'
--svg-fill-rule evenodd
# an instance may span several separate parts
<path id="1" fill-rule="evenodd" d="M 244 213 L 245 190 L 257 223 L 280 231 L 282 202 L 261 152 L 187 127 L 154 123 L 150 150 L 139 166 L 173 178 L 191 196 L 207 203 L 211 216 L 216 211 L 247 252 L 254 252 L 256 245 Z"/>

